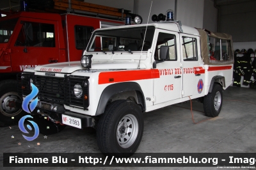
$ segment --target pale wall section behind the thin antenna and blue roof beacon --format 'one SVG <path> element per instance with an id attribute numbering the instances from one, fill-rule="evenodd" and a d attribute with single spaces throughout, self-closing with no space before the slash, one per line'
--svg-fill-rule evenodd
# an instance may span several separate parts
<path id="1" fill-rule="evenodd" d="M 150 17 L 148 19 L 148 13 L 150 10 L 151 2 L 152 2 L 152 8 L 150 12 Z M 174 8 L 175 8 L 175 0 L 158 0 L 158 1 L 139 0 L 138 15 L 141 15 L 143 19 L 142 24 L 147 24 L 147 20 L 148 20 L 148 23 L 154 23 L 151 19 L 152 15 L 154 14 L 159 15 L 159 13 L 163 13 L 164 15 L 166 15 L 166 11 L 170 9 L 173 10 L 173 13 L 175 13 Z"/>

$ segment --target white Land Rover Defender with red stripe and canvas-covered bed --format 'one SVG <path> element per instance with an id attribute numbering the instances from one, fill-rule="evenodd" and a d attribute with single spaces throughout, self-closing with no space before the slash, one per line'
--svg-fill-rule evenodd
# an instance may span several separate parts
<path id="1" fill-rule="evenodd" d="M 31 115 L 42 134 L 95 127 L 100 151 L 132 155 L 143 112 L 200 98 L 205 115 L 218 116 L 233 63 L 227 34 L 180 22 L 109 27 L 93 32 L 81 61 L 26 69 L 19 93 L 39 89 Z"/>

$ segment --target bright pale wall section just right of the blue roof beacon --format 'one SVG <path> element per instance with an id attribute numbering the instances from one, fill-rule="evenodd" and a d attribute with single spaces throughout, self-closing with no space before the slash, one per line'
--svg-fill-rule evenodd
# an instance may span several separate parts
<path id="1" fill-rule="evenodd" d="M 177 20 L 182 25 L 191 27 L 203 27 L 204 0 L 178 0 Z"/>

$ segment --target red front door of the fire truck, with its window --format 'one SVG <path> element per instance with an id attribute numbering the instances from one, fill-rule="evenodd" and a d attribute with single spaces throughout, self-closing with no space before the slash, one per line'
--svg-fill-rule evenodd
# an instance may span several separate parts
<path id="1" fill-rule="evenodd" d="M 20 18 L 10 43 L 12 69 L 57 63 L 59 42 L 57 21 Z"/>

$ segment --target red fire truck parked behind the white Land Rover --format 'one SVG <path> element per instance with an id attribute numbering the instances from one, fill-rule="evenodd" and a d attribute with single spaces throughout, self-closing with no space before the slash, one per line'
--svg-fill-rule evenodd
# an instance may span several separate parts
<path id="1" fill-rule="evenodd" d="M 92 31 L 121 20 L 77 14 L 19 12 L 0 17 L 0 125 L 19 121 L 16 75 L 47 63 L 79 61 Z"/>

